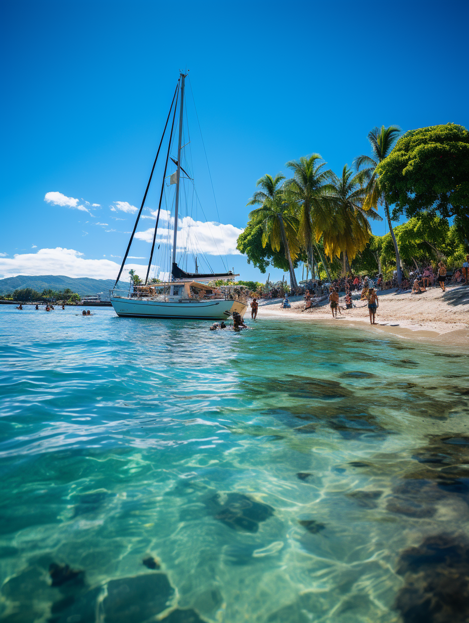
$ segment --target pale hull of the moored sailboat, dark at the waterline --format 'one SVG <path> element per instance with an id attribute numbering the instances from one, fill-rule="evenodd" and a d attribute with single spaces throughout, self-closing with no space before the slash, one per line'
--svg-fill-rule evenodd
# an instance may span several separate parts
<path id="1" fill-rule="evenodd" d="M 111 304 L 118 316 L 180 318 L 181 320 L 226 320 L 233 312 L 238 312 L 243 316 L 247 309 L 244 303 L 229 300 L 179 302 L 111 297 Z"/>

